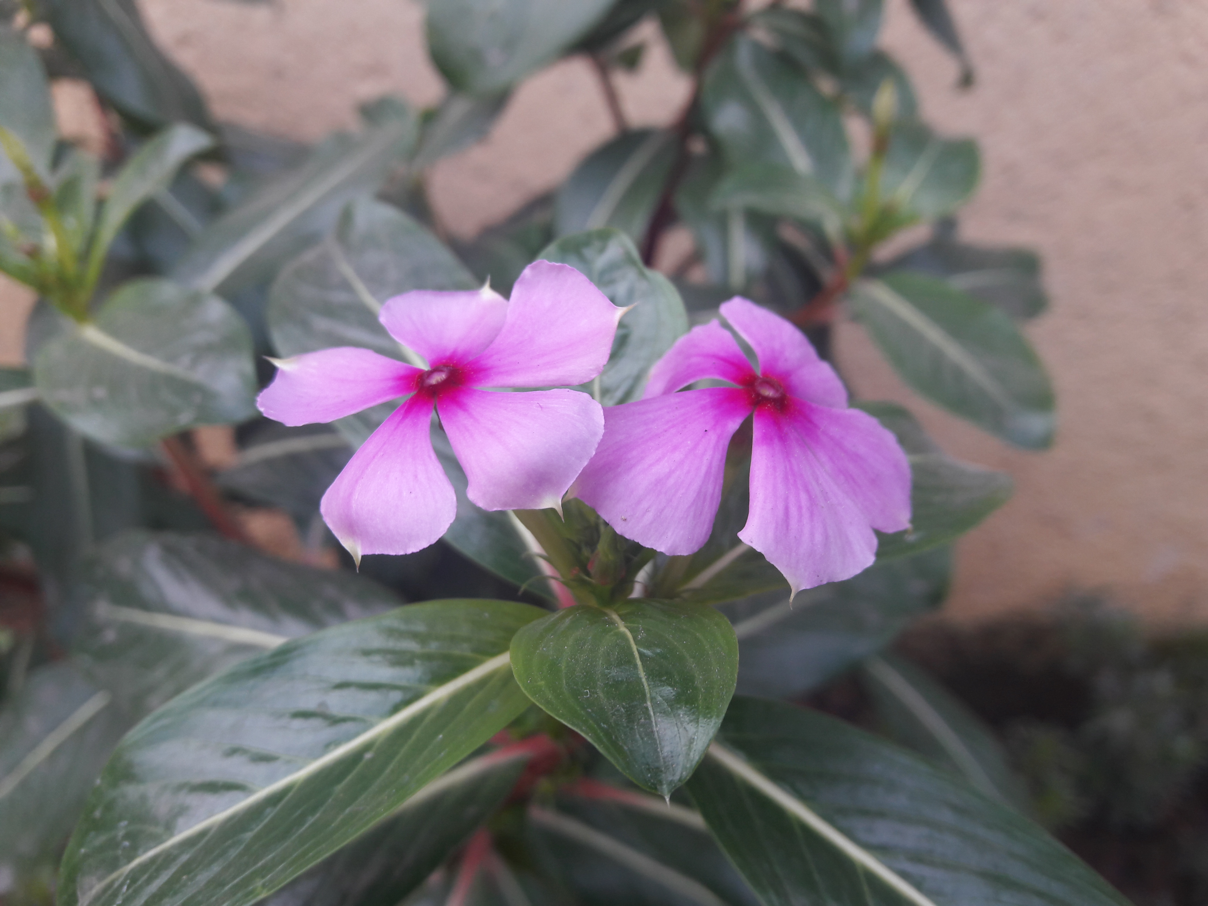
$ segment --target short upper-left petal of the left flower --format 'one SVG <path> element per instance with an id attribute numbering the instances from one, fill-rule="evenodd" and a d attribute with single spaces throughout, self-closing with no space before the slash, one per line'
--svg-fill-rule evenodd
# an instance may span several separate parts
<path id="1" fill-rule="evenodd" d="M 483 288 L 403 292 L 387 300 L 378 319 L 391 337 L 435 366 L 476 356 L 499 335 L 506 316 L 507 300 Z"/>

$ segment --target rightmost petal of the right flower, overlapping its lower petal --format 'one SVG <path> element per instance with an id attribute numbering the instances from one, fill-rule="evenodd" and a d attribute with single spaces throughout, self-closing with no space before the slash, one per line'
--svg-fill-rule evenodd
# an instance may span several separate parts
<path id="1" fill-rule="evenodd" d="M 801 408 L 811 451 L 869 524 L 878 532 L 910 528 L 910 461 L 894 432 L 860 410 Z"/>

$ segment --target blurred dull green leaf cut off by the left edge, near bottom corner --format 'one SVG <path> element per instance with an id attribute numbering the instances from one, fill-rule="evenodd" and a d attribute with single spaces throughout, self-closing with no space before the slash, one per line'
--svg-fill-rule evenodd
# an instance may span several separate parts
<path id="1" fill-rule="evenodd" d="M 66 661 L 37 668 L 10 696 L 0 709 L 0 873 L 53 864 L 130 724 Z"/>

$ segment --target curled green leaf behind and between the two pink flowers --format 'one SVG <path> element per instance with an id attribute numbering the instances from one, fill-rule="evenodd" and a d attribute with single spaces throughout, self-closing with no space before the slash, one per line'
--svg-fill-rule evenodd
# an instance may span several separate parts
<path id="1" fill-rule="evenodd" d="M 633 306 L 617 325 L 598 393 L 592 389 L 604 406 L 640 399 L 650 367 L 687 333 L 687 312 L 670 280 L 644 267 L 628 237 L 612 228 L 564 237 L 538 257 L 570 265 L 612 304 Z"/>

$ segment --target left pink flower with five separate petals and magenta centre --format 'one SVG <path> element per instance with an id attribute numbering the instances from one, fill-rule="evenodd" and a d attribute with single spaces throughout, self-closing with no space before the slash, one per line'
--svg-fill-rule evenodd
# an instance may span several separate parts
<path id="1" fill-rule="evenodd" d="M 453 486 L 432 449 L 432 407 L 483 510 L 559 506 L 599 443 L 599 403 L 565 387 L 604 367 L 625 309 L 573 267 L 538 261 L 512 300 L 489 289 L 417 290 L 382 307 L 382 325 L 422 355 L 417 368 L 354 347 L 278 362 L 260 411 L 288 425 L 332 422 L 406 396 L 323 495 L 339 542 L 365 553 L 411 553 L 445 534 L 457 512 Z"/>

